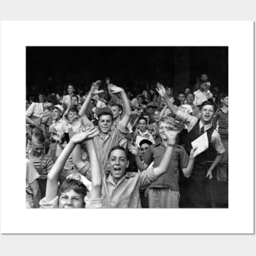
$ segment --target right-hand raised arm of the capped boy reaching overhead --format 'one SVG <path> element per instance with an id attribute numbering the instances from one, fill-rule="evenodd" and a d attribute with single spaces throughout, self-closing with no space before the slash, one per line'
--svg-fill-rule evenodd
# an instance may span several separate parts
<path id="1" fill-rule="evenodd" d="M 120 120 L 119 124 L 123 124 L 124 127 L 127 127 L 130 116 L 132 115 L 132 110 L 128 101 L 128 97 L 124 92 L 123 88 L 119 88 L 113 84 L 109 85 L 109 90 L 111 93 L 121 93 L 122 100 L 124 101 L 124 117 Z"/>

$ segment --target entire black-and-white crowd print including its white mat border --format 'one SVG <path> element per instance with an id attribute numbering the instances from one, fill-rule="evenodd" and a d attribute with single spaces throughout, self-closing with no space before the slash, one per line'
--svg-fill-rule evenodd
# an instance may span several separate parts
<path id="1" fill-rule="evenodd" d="M 254 232 L 253 27 L 2 22 L 2 233 Z"/>

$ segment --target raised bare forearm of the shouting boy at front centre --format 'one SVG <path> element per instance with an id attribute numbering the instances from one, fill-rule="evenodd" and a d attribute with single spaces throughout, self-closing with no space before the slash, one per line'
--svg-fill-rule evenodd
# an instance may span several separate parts
<path id="1" fill-rule="evenodd" d="M 168 137 L 168 143 L 164 151 L 164 156 L 163 156 L 163 159 L 161 160 L 161 163 L 159 164 L 158 167 L 154 168 L 156 177 L 161 176 L 167 171 L 168 165 L 170 164 L 172 154 L 173 154 L 173 146 L 175 145 L 175 141 L 177 137 L 176 131 L 167 131 L 167 129 L 164 128 L 164 132 Z"/>

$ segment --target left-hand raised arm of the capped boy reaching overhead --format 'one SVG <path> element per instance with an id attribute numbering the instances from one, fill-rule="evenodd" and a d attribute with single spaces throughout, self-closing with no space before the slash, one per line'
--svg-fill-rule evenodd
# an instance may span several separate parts
<path id="1" fill-rule="evenodd" d="M 79 110 L 79 115 L 81 116 L 84 127 L 87 127 L 88 124 L 90 124 L 90 121 L 86 115 L 86 111 L 88 110 L 88 106 L 90 105 L 90 101 L 92 100 L 92 97 L 98 93 L 104 92 L 103 90 L 99 91 L 100 83 L 101 83 L 100 80 L 97 80 L 96 82 L 92 83 L 92 88 L 88 93 L 88 97 L 83 102 L 83 106 L 81 107 L 81 110 Z"/>

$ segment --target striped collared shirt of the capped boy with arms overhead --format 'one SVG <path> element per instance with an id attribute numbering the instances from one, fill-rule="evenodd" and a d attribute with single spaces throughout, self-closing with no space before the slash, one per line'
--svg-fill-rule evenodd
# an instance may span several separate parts
<path id="1" fill-rule="evenodd" d="M 91 123 L 91 125 L 93 125 Z M 111 129 L 106 137 L 103 137 L 101 132 L 93 137 L 93 144 L 97 152 L 100 162 L 101 170 L 108 170 L 108 158 L 110 149 L 113 146 L 118 146 L 121 141 L 128 134 L 127 128 L 122 124 L 118 124 L 116 128 Z"/>

